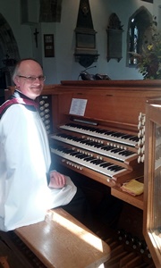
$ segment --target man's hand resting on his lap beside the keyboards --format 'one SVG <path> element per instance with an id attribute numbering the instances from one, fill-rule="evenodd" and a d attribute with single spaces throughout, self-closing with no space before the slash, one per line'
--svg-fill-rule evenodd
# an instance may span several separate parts
<path id="1" fill-rule="evenodd" d="M 50 188 L 64 188 L 66 186 L 66 177 L 59 172 L 50 172 Z"/>

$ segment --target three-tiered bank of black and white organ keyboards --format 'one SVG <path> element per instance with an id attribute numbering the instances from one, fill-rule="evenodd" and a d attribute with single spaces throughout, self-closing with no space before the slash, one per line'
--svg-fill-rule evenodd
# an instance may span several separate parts
<path id="1" fill-rule="evenodd" d="M 110 186 L 131 176 L 131 163 L 138 160 L 137 136 L 75 123 L 61 125 L 60 131 L 51 136 L 51 152 L 65 165 L 97 172 Z"/>

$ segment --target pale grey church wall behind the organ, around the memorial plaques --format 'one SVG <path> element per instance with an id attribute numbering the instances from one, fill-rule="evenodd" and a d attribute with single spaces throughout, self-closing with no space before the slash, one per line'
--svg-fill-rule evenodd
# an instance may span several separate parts
<path id="1" fill-rule="evenodd" d="M 38 9 L 35 16 L 38 17 Z M 41 22 L 36 24 L 21 24 L 21 1 L 1 0 L 1 13 L 13 29 L 19 53 L 23 57 L 35 57 L 42 63 L 47 75 L 47 84 L 59 83 L 61 80 L 77 80 L 84 67 L 75 62 L 74 48 L 77 15 L 80 1 L 63 0 L 60 22 Z M 99 55 L 97 67 L 89 70 L 90 73 L 104 73 L 112 80 L 141 79 L 139 72 L 126 67 L 126 36 L 128 20 L 132 13 L 144 5 L 152 14 L 157 14 L 159 0 L 150 4 L 140 0 L 89 0 L 94 29 L 97 31 L 97 52 Z M 33 10 L 32 10 L 33 13 Z M 123 24 L 123 59 L 117 63 L 111 59 L 106 61 L 106 27 L 111 13 L 116 13 Z M 38 47 L 36 46 L 34 32 L 38 30 Z M 44 56 L 44 34 L 54 34 L 55 57 Z"/>

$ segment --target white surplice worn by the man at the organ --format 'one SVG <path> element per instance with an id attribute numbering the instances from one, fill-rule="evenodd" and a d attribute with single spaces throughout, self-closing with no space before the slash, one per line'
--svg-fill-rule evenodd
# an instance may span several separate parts
<path id="1" fill-rule="evenodd" d="M 0 230 L 43 221 L 47 209 L 66 205 L 77 188 L 47 187 L 51 163 L 47 132 L 38 112 L 12 105 L 0 120 Z"/>

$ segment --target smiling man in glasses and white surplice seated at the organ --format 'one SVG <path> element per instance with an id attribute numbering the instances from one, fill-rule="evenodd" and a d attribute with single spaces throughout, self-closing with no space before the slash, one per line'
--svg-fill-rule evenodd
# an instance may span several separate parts
<path id="1" fill-rule="evenodd" d="M 34 101 L 44 81 L 38 62 L 21 60 L 13 71 L 15 92 L 0 106 L 0 230 L 43 221 L 47 209 L 60 205 L 84 217 L 85 200 L 72 180 L 50 172 L 47 133 Z"/>

